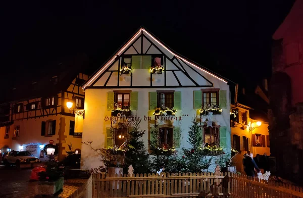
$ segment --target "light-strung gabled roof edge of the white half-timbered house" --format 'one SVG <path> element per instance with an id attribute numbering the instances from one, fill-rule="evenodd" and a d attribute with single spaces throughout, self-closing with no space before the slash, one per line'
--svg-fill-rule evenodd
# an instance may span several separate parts
<path id="1" fill-rule="evenodd" d="M 184 62 L 185 64 L 187 64 L 188 66 L 198 69 L 200 71 L 203 71 L 219 80 L 221 80 L 222 82 L 227 83 L 232 82 L 222 76 L 220 76 L 219 74 L 216 74 L 212 71 L 210 71 L 209 69 L 200 66 L 196 63 L 194 63 L 193 61 L 188 60 L 187 58 L 175 53 L 173 50 L 171 50 L 171 48 L 169 48 L 167 45 L 165 45 L 162 41 L 160 41 L 160 39 L 158 39 L 156 36 L 154 36 L 153 34 L 151 34 L 150 32 L 148 32 L 145 28 L 141 27 L 124 45 L 122 45 L 120 47 L 120 49 L 102 66 L 100 67 L 83 85 L 82 88 L 86 89 L 90 86 L 92 86 L 95 81 L 100 78 L 100 76 L 103 75 L 103 73 L 115 62 L 117 61 L 117 59 L 126 51 L 128 50 L 128 47 L 130 45 L 133 44 L 133 42 L 140 36 L 140 35 L 146 35 L 149 38 L 151 38 L 150 40 L 153 40 L 153 42 L 158 43 L 159 45 L 161 45 L 164 48 L 164 51 L 166 53 L 170 54 L 170 58 L 176 58 L 177 60 L 181 60 L 182 62 Z"/>

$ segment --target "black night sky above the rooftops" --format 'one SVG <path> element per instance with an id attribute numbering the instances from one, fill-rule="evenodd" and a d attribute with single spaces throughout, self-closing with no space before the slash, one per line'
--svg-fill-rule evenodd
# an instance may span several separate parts
<path id="1" fill-rule="evenodd" d="M 77 52 L 88 55 L 94 72 L 141 25 L 177 53 L 237 83 L 270 75 L 271 36 L 294 1 L 203 2 L 2 2 L 0 79 L 16 83 Z"/>

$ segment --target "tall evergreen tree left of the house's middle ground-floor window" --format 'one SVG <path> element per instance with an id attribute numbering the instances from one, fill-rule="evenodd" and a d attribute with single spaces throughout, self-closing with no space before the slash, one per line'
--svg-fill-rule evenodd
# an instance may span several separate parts
<path id="1" fill-rule="evenodd" d="M 127 149 L 125 153 L 125 170 L 127 173 L 128 166 L 132 165 L 134 173 L 148 173 L 148 156 L 143 142 L 145 130 L 140 130 L 140 120 L 132 120 L 132 130 L 128 134 Z"/>

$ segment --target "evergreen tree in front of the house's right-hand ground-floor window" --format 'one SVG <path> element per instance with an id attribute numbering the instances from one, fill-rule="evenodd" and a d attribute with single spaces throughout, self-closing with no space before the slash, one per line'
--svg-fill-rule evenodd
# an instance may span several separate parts
<path id="1" fill-rule="evenodd" d="M 183 162 L 185 163 L 188 172 L 200 172 L 203 169 L 208 169 L 211 165 L 212 157 L 206 156 L 203 152 L 202 145 L 202 133 L 200 125 L 195 118 L 192 119 L 192 125 L 189 127 L 188 140 L 190 144 L 189 149 L 183 147 L 184 153 Z"/>

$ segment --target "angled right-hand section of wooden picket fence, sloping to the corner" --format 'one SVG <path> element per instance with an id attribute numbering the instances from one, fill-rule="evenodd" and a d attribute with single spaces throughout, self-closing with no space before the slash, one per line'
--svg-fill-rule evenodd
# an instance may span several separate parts
<path id="1" fill-rule="evenodd" d="M 260 180 L 246 175 L 231 175 L 231 197 L 233 198 L 298 198 L 303 189 L 274 181 Z"/>

